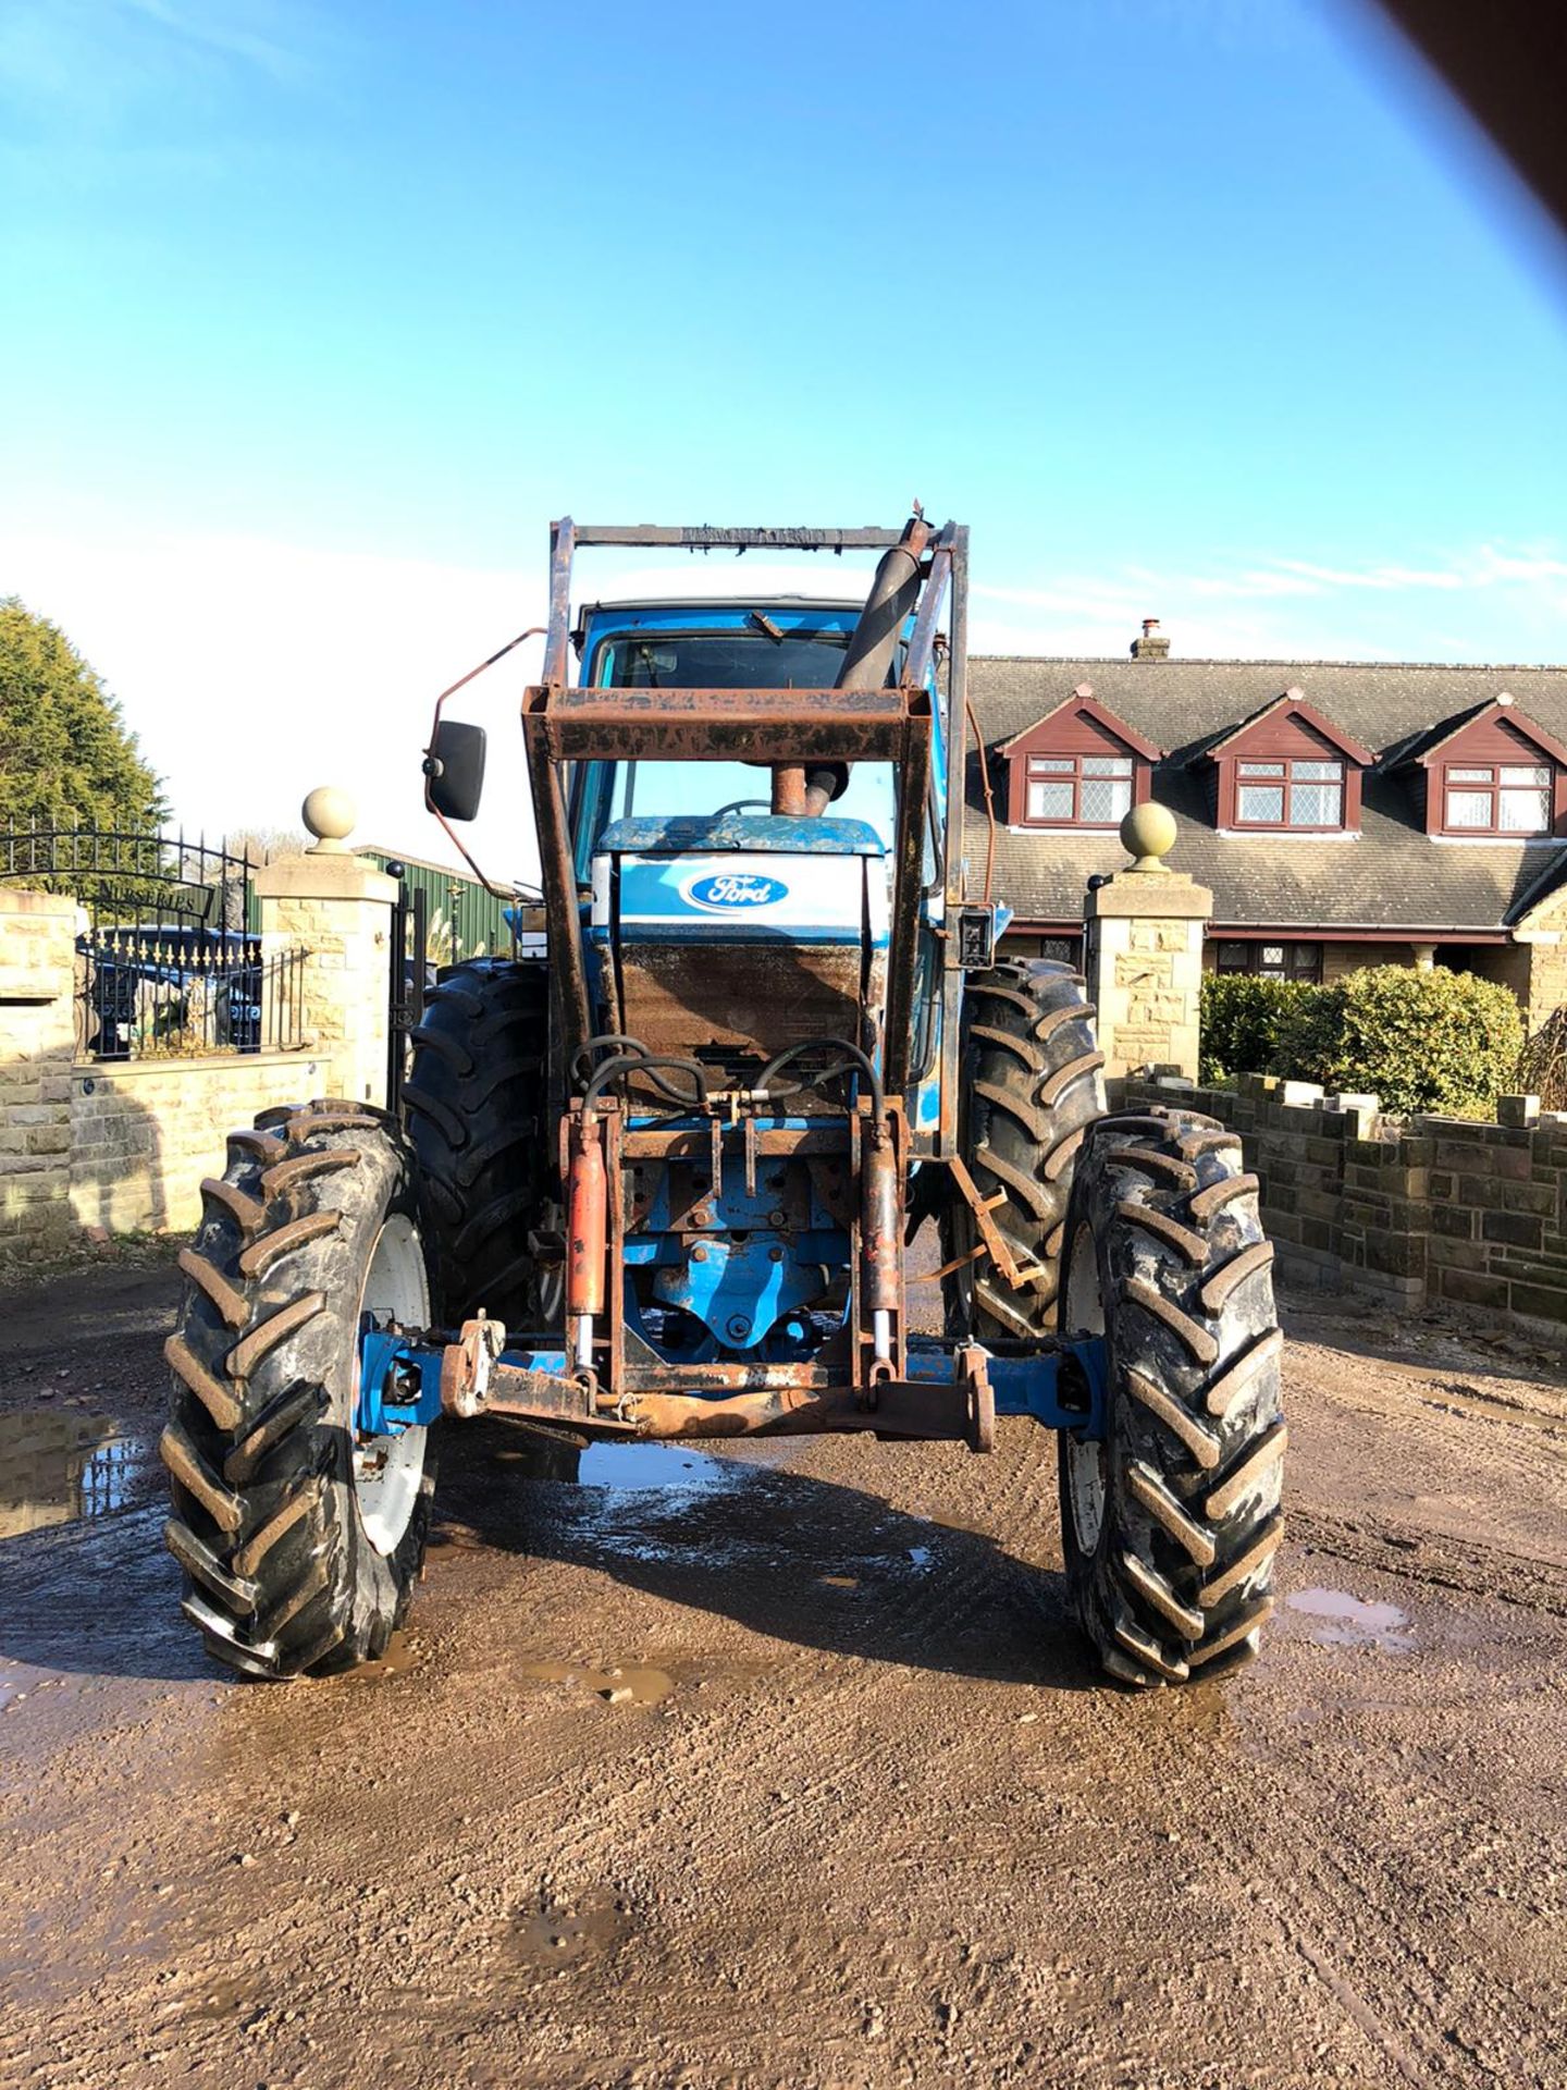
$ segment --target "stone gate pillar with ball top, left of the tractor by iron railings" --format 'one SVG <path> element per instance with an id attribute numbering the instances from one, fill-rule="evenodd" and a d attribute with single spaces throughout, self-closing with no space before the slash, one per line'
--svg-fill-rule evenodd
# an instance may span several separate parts
<path id="1" fill-rule="evenodd" d="M 330 1068 L 326 1093 L 384 1104 L 397 880 L 351 855 L 355 819 L 347 792 L 313 790 L 303 821 L 315 844 L 255 874 L 261 1041 L 307 1045 Z"/>

